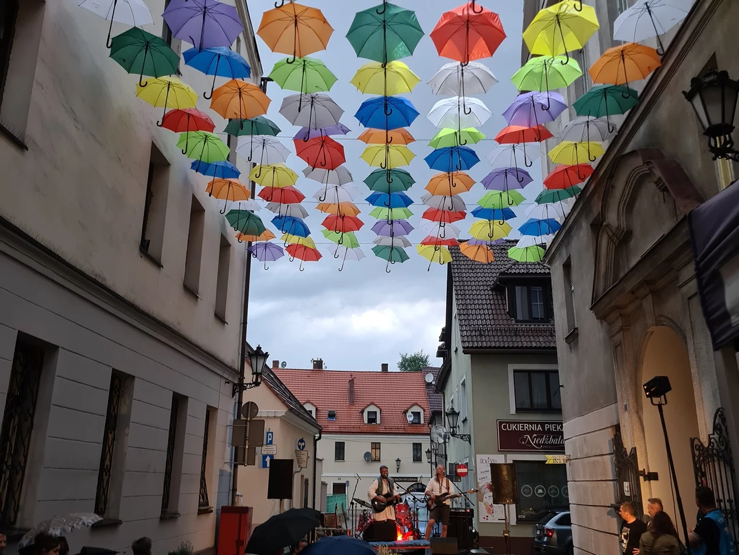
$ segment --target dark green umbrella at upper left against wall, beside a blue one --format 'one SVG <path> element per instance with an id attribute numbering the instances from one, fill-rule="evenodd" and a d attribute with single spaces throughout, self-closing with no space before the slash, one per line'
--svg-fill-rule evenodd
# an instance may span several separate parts
<path id="1" fill-rule="evenodd" d="M 160 37 L 133 27 L 110 39 L 110 57 L 129 73 L 139 74 L 139 86 L 143 76 L 163 77 L 177 72 L 180 56 Z"/>

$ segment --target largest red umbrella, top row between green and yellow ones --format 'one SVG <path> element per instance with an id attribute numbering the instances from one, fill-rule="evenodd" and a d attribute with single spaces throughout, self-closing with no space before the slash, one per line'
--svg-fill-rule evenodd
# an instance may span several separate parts
<path id="1" fill-rule="evenodd" d="M 431 32 L 440 56 L 465 65 L 471 60 L 490 58 L 504 38 L 498 14 L 476 6 L 475 0 L 441 14 Z"/>

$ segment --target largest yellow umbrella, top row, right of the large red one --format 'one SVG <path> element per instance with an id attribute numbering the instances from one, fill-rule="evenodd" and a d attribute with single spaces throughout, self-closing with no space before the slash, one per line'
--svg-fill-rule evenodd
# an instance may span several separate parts
<path id="1" fill-rule="evenodd" d="M 565 0 L 540 10 L 523 32 L 523 40 L 532 54 L 557 56 L 580 50 L 599 28 L 594 7 Z"/>

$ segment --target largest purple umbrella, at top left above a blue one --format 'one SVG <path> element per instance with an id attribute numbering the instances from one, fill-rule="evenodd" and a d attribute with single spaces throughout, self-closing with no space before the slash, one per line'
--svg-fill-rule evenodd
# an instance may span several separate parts
<path id="1" fill-rule="evenodd" d="M 230 48 L 244 30 L 236 8 L 217 0 L 172 0 L 162 17 L 175 37 L 197 50 Z"/>

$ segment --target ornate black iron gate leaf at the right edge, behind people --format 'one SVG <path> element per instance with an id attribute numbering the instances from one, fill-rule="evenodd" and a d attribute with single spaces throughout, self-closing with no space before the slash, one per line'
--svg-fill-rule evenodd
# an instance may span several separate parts
<path id="1" fill-rule="evenodd" d="M 738 484 L 723 409 L 719 408 L 713 417 L 713 432 L 708 436 L 708 445 L 704 445 L 699 437 L 691 437 L 690 447 L 695 484 L 713 490 L 716 506 L 729 524 L 735 545 L 739 545 L 739 513 L 735 501 Z"/>

